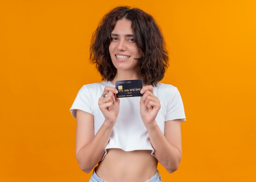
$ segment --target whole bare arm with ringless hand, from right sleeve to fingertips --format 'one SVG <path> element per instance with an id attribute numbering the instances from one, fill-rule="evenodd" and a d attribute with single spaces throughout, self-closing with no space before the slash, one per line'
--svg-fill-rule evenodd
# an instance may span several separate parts
<path id="1" fill-rule="evenodd" d="M 153 94 L 153 87 L 144 87 L 141 92 L 144 93 L 140 101 L 141 118 L 148 130 L 155 156 L 172 173 L 177 170 L 182 157 L 180 120 L 166 121 L 163 134 L 155 121 L 161 104 Z"/>

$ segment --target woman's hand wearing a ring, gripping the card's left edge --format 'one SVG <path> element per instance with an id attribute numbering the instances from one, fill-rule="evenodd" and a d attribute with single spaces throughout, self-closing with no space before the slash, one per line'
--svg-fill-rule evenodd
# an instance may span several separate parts
<path id="1" fill-rule="evenodd" d="M 106 97 L 103 97 L 104 94 Z M 116 97 L 118 93 L 114 87 L 105 87 L 102 96 L 99 98 L 99 109 L 105 117 L 105 121 L 110 124 L 115 124 L 119 113 L 120 100 Z"/>

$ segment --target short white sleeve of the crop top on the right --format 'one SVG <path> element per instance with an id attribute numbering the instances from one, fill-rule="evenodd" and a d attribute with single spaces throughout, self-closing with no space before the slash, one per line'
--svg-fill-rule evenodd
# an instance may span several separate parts
<path id="1" fill-rule="evenodd" d="M 180 96 L 180 92 L 176 87 L 174 87 L 173 94 L 169 98 L 167 107 L 166 107 L 166 117 L 165 120 L 177 120 L 181 121 L 186 120 L 184 106 L 182 102 L 182 98 Z"/>

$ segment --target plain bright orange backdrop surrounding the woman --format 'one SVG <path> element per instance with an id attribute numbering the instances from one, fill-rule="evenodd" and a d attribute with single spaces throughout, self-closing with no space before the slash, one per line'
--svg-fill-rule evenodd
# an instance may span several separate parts
<path id="1" fill-rule="evenodd" d="M 88 181 L 69 108 L 101 81 L 89 45 L 117 5 L 155 17 L 170 52 L 163 82 L 180 90 L 183 158 L 164 182 L 256 180 L 255 0 L 2 0 L 0 181 Z"/>

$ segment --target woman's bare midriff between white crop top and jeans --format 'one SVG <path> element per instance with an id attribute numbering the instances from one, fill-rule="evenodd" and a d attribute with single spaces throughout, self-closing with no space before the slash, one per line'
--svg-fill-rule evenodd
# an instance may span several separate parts
<path id="1" fill-rule="evenodd" d="M 107 182 L 145 182 L 155 175 L 156 170 L 157 159 L 151 151 L 108 149 L 96 173 Z"/>

